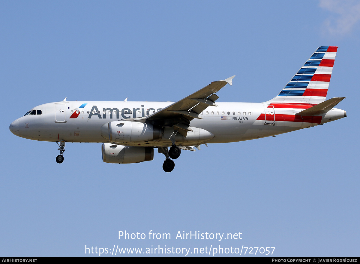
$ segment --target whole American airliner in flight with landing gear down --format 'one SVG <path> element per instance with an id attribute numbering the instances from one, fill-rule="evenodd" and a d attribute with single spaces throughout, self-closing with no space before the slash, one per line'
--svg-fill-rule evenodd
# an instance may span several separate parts
<path id="1" fill-rule="evenodd" d="M 345 97 L 326 100 L 338 47 L 322 46 L 273 99 L 262 103 L 217 102 L 216 95 L 235 76 L 215 81 L 177 102 L 63 101 L 32 108 L 10 124 L 31 140 L 57 142 L 64 161 L 66 142 L 100 142 L 107 163 L 153 160 L 165 155 L 171 172 L 181 150 L 200 145 L 276 136 L 343 117 L 334 108 Z M 169 148 L 170 147 L 170 148 Z"/>

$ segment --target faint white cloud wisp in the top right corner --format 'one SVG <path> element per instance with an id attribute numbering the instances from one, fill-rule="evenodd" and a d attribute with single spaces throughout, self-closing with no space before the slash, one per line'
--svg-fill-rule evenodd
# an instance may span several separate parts
<path id="1" fill-rule="evenodd" d="M 320 0 L 319 6 L 332 14 L 324 21 L 326 34 L 342 36 L 349 34 L 360 21 L 360 1 Z"/>

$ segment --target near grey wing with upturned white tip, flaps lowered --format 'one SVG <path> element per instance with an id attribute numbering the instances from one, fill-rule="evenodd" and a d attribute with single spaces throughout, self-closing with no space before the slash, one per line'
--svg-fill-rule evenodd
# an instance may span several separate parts
<path id="1" fill-rule="evenodd" d="M 190 121 L 194 118 L 202 119 L 199 114 L 208 106 L 217 106 L 215 101 L 219 96 L 215 93 L 226 84 L 233 85 L 232 80 L 234 77 L 235 75 L 225 80 L 212 82 L 184 99 L 147 116 L 146 119 L 152 120 L 161 126 L 174 126 L 175 130 L 186 136 L 188 131 L 192 131 L 189 128 Z"/>

